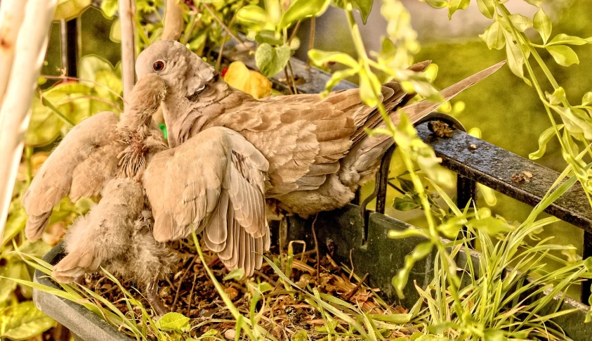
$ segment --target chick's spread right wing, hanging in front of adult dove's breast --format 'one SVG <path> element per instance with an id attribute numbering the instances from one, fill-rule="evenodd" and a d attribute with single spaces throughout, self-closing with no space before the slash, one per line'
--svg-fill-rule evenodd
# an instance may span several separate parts
<path id="1" fill-rule="evenodd" d="M 157 153 L 144 174 L 158 241 L 187 237 L 192 226 L 229 269 L 247 275 L 270 246 L 265 219 L 268 161 L 243 136 L 206 129 Z"/>

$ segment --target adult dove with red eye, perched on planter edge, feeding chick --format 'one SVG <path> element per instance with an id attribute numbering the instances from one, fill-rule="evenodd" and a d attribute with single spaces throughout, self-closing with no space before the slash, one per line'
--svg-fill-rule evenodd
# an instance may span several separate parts
<path id="1" fill-rule="evenodd" d="M 429 63 L 411 69 L 421 71 Z M 443 97 L 449 101 L 504 63 L 449 86 Z M 361 184 L 374 179 L 382 155 L 393 144 L 389 136 L 367 135 L 367 128 L 383 122 L 376 108 L 360 101 L 358 89 L 335 91 L 325 98 L 301 94 L 256 100 L 232 89 L 213 67 L 176 41 L 158 41 L 140 53 L 136 74 L 139 79 L 157 74 L 166 83 L 162 109 L 169 146 L 183 146 L 209 127 L 237 131 L 268 160 L 265 196 L 268 204 L 282 212 L 307 217 L 343 207 Z M 404 106 L 413 96 L 396 82 L 383 84 L 382 103 L 395 124 L 400 109 L 417 122 L 440 105 L 421 101 Z M 160 195 L 178 194 L 162 191 Z M 169 219 L 179 219 L 177 215 L 184 216 L 189 208 L 179 207 Z M 155 219 L 159 220 L 158 214 Z M 159 234 L 158 240 L 169 240 L 186 231 L 167 225 L 162 231 L 156 226 L 154 233 Z"/>

